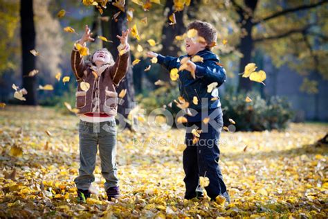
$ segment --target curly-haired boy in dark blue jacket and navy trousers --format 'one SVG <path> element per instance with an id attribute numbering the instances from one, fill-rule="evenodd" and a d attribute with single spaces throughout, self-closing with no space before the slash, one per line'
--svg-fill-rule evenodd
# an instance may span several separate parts
<path id="1" fill-rule="evenodd" d="M 188 120 L 185 134 L 187 148 L 183 151 L 185 198 L 203 197 L 199 179 L 208 177 L 210 184 L 205 187 L 208 196 L 215 200 L 221 195 L 230 202 L 219 167 L 219 136 L 223 127 L 223 114 L 217 87 L 226 81 L 226 71 L 219 64 L 217 55 L 210 51 L 217 41 L 217 30 L 207 22 L 193 21 L 188 24 L 188 33 L 196 34 L 189 34 L 185 39 L 187 55 L 174 58 L 150 51 L 147 56 L 156 57 L 158 63 L 169 71 L 179 69 L 183 64 L 183 71 L 179 71 L 179 90 L 192 112 L 185 116 Z M 208 85 L 214 89 L 208 89 Z M 190 130 L 194 128 L 202 132 L 191 133 Z M 198 141 L 194 141 L 195 135 Z"/>

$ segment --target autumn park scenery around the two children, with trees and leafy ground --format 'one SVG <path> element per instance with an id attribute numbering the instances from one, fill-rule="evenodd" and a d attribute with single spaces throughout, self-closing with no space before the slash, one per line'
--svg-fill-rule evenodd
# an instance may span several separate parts
<path id="1" fill-rule="evenodd" d="M 326 216 L 327 1 L 127 0 L 104 8 L 105 3 L 0 1 L 1 216 L 15 216 L 24 206 L 28 210 L 20 211 L 23 217 L 90 216 L 93 211 L 97 216 L 125 217 Z M 235 202 L 226 206 L 220 201 L 183 201 L 183 131 L 158 136 L 130 127 L 118 134 L 122 200 L 107 207 L 100 193 L 90 206 L 77 205 L 72 198 L 78 169 L 78 119 L 72 109 L 77 83 L 70 58 L 84 25 L 96 39 L 88 44 L 91 53 L 107 47 L 114 58 L 116 35 L 136 25 L 138 35 L 129 37 L 129 71 L 118 88 L 118 93 L 127 91 L 119 112 L 129 121 L 124 109 L 134 108 L 134 102 L 147 113 L 162 107 L 172 114 L 179 110 L 172 104 L 179 96 L 177 82 L 145 52 L 185 53 L 183 40 L 176 36 L 194 19 L 218 30 L 212 51 L 228 76 L 219 88 L 226 126 L 220 165 Z M 140 62 L 132 64 L 137 59 Z M 249 63 L 266 72 L 265 85 L 242 77 Z M 68 82 L 62 81 L 65 76 Z M 22 88 L 28 91 L 26 100 L 14 98 Z M 142 146 L 134 147 L 134 139 Z M 100 170 L 96 175 L 101 188 Z M 170 177 L 176 180 L 167 182 Z"/>

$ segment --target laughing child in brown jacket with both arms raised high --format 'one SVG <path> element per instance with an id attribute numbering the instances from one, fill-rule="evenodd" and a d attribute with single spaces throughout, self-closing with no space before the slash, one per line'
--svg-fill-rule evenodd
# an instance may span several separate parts
<path id="1" fill-rule="evenodd" d="M 125 77 L 129 64 L 130 30 L 122 31 L 118 46 L 118 58 L 113 61 L 107 49 L 99 49 L 91 55 L 91 62 L 84 62 L 77 47 L 85 46 L 91 37 L 88 26 L 82 38 L 75 43 L 71 64 L 78 80 L 76 105 L 79 109 L 80 168 L 74 182 L 78 187 L 78 199 L 85 202 L 91 195 L 90 186 L 95 177 L 95 157 L 100 151 L 101 173 L 106 182 L 104 188 L 109 200 L 120 194 L 116 168 L 116 121 L 118 94 L 116 87 Z M 80 44 L 80 45 L 78 45 Z"/>

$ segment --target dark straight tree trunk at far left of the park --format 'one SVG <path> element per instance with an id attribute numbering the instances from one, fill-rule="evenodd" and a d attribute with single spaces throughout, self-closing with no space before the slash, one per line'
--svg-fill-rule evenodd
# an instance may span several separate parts
<path id="1" fill-rule="evenodd" d="M 35 69 L 35 56 L 30 50 L 35 49 L 35 26 L 33 20 L 33 0 L 21 0 L 21 55 L 23 87 L 28 91 L 26 105 L 37 105 L 36 78 L 27 77 Z"/>

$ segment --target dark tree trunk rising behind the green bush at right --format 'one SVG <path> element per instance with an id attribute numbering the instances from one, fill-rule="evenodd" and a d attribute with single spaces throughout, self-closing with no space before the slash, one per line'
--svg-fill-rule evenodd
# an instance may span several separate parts
<path id="1" fill-rule="evenodd" d="M 250 14 L 245 16 L 246 12 L 239 12 L 240 23 L 242 24 L 241 30 L 244 29 L 246 35 L 242 34 L 240 39 L 239 50 L 243 54 L 243 57 L 239 61 L 239 73 L 244 72 L 246 64 L 252 60 L 252 52 L 254 49 L 254 41 L 252 37 L 253 30 L 253 13 L 257 6 L 257 0 L 244 0 L 245 5 L 251 10 Z M 239 76 L 238 92 L 250 91 L 252 89 L 252 83 L 249 78 L 243 78 Z"/>

